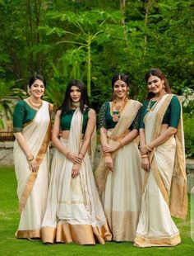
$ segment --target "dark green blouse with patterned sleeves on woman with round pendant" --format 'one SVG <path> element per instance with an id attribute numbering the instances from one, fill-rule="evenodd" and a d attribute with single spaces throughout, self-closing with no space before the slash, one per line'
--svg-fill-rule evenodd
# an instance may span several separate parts
<path id="1" fill-rule="evenodd" d="M 118 114 L 118 111 L 113 111 L 113 113 Z M 137 112 L 132 125 L 128 128 L 129 130 L 139 130 L 139 123 L 141 117 L 141 108 Z M 113 121 L 113 116 L 110 114 L 110 104 L 109 102 L 104 102 L 99 110 L 99 128 L 111 129 L 117 125 L 118 122 Z"/>

